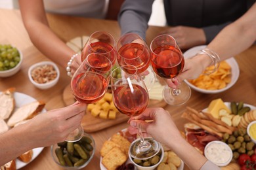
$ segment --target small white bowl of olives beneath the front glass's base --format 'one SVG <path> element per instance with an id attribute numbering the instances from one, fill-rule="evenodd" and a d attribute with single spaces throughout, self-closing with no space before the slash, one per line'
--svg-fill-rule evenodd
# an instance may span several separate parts
<path id="1" fill-rule="evenodd" d="M 164 150 L 163 150 L 163 146 L 161 146 L 160 151 L 158 152 L 158 154 L 156 154 L 156 156 L 153 156 L 150 159 L 146 159 L 146 160 L 137 160 L 135 158 L 132 158 L 131 155 L 129 154 L 129 160 L 137 167 L 137 169 L 139 170 L 153 170 L 156 169 L 156 167 L 158 167 L 158 165 L 161 163 L 161 161 L 163 160 L 163 154 L 164 154 Z"/>

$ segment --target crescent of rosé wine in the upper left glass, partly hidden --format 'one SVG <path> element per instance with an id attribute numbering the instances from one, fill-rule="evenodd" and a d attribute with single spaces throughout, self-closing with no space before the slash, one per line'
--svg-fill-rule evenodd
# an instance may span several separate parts
<path id="1" fill-rule="evenodd" d="M 112 65 L 116 61 L 117 52 L 115 48 L 106 42 L 93 42 L 82 50 L 81 60 L 83 61 L 91 53 L 99 53 L 110 59 Z"/>

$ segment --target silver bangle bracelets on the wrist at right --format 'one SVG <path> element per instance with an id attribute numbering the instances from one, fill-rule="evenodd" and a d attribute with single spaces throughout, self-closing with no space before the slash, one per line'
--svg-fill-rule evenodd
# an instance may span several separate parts
<path id="1" fill-rule="evenodd" d="M 220 58 L 216 52 L 213 52 L 213 50 L 210 50 L 209 48 L 204 48 L 203 50 L 200 50 L 198 54 L 206 54 L 207 56 L 209 56 L 209 58 L 211 58 L 211 61 L 214 65 L 214 69 L 212 70 L 207 69 L 207 71 L 204 73 L 205 75 L 209 75 L 217 71 L 217 69 L 219 68 Z"/>

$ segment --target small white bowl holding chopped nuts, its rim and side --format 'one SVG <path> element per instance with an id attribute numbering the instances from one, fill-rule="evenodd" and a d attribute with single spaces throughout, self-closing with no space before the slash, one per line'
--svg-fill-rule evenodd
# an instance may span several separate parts
<path id="1" fill-rule="evenodd" d="M 54 78 L 54 80 L 51 80 L 50 82 L 46 82 L 46 83 L 37 83 L 33 80 L 32 78 L 32 71 L 33 69 L 35 69 L 36 67 L 42 66 L 42 65 L 53 65 L 54 69 L 56 70 L 56 78 Z M 35 87 L 39 88 L 39 89 L 47 89 L 47 88 L 51 88 L 53 87 L 57 82 L 58 79 L 60 78 L 60 71 L 57 67 L 57 65 L 55 63 L 53 63 L 52 61 L 42 61 L 39 63 L 35 63 L 34 65 L 30 66 L 30 68 L 28 69 L 28 78 L 30 78 L 30 81 L 33 83 L 33 85 L 35 85 Z"/>

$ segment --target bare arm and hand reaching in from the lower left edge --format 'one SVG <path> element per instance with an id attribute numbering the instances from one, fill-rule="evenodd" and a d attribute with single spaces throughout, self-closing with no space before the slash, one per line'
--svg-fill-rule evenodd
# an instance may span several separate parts
<path id="1" fill-rule="evenodd" d="M 86 105 L 75 103 L 38 114 L 32 120 L 0 135 L 0 166 L 32 148 L 62 142 L 80 126 Z"/>

